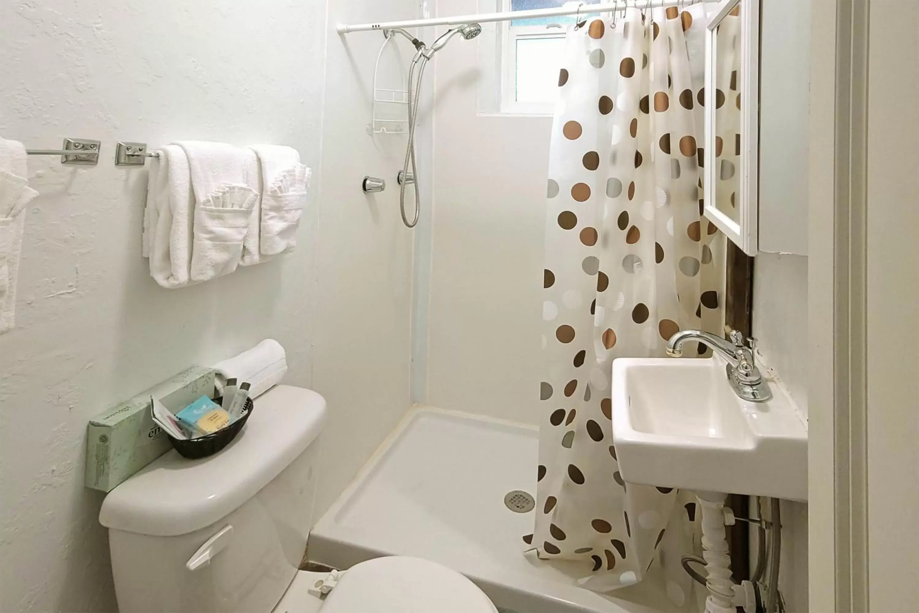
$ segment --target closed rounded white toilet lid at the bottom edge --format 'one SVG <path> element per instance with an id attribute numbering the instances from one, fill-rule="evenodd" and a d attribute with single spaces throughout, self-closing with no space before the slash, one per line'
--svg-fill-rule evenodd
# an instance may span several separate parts
<path id="1" fill-rule="evenodd" d="M 321 613 L 496 613 L 484 592 L 446 566 L 391 556 L 341 575 Z"/>

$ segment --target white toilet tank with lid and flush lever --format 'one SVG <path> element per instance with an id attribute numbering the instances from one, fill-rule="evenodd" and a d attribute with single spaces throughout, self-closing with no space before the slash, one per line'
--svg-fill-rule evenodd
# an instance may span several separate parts
<path id="1" fill-rule="evenodd" d="M 120 613 L 269 613 L 312 528 L 324 420 L 322 396 L 279 385 L 220 453 L 170 450 L 112 490 L 99 521 Z"/>

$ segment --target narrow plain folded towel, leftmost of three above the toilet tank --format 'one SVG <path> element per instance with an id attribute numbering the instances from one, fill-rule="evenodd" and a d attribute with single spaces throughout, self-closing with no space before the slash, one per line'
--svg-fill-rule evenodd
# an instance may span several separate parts
<path id="1" fill-rule="evenodd" d="M 144 248 L 150 275 L 164 288 L 183 288 L 191 281 L 192 191 L 188 158 L 178 145 L 159 150 L 150 165 Z"/>

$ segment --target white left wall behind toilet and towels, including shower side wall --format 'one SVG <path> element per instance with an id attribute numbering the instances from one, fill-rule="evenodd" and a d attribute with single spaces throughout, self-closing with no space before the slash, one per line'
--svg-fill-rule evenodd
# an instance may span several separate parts
<path id="1" fill-rule="evenodd" d="M 416 11 L 329 5 L 333 24 Z M 329 401 L 320 513 L 407 408 L 411 234 L 391 190 L 359 189 L 394 154 L 366 132 L 380 39 L 327 25 L 326 0 L 0 3 L 0 134 L 103 142 L 96 167 L 29 158 L 40 197 L 0 336 L 0 610 L 116 609 L 104 494 L 83 486 L 86 421 L 112 403 L 277 338 L 286 382 Z M 119 139 L 296 147 L 316 171 L 298 249 L 161 289 L 140 255 L 146 170 L 112 164 Z"/>

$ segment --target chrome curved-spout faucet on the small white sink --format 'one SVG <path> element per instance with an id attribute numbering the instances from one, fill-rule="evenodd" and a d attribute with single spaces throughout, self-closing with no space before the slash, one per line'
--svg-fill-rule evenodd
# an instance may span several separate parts
<path id="1" fill-rule="evenodd" d="M 714 351 L 728 360 L 725 368 L 728 374 L 728 383 L 731 389 L 743 400 L 751 403 L 765 403 L 772 398 L 769 385 L 763 379 L 762 373 L 756 368 L 754 350 L 755 338 L 743 338 L 743 333 L 732 330 L 731 342 L 720 336 L 702 332 L 700 330 L 682 330 L 670 337 L 667 342 L 667 355 L 679 358 L 683 355 L 683 343 L 687 340 L 697 340 L 710 346 Z M 744 343 L 745 341 L 745 343 Z"/>

